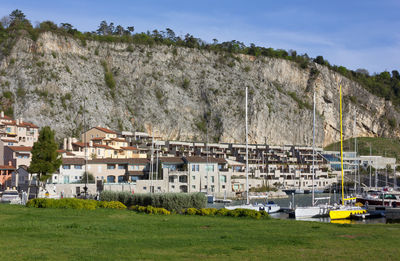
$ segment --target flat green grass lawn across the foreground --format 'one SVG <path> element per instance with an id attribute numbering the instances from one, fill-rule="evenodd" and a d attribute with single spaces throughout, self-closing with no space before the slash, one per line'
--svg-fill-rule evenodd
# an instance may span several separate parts
<path id="1" fill-rule="evenodd" d="M 400 225 L 0 204 L 0 260 L 395 260 Z"/>

